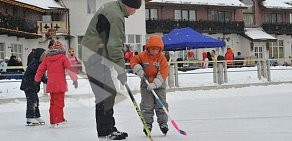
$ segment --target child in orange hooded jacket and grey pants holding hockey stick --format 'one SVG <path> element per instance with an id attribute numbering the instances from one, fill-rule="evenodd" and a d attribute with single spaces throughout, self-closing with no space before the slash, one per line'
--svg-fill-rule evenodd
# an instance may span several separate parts
<path id="1" fill-rule="evenodd" d="M 145 50 L 133 56 L 130 65 L 133 72 L 142 79 L 140 86 L 142 97 L 140 108 L 148 128 L 151 131 L 155 111 L 160 130 L 163 134 L 166 134 L 168 131 L 168 117 L 162 107 L 155 102 L 155 97 L 151 92 L 154 90 L 165 108 L 168 109 L 165 84 L 168 76 L 168 63 L 162 54 L 163 48 L 162 38 L 158 35 L 151 35 L 146 42 Z M 144 77 L 148 79 L 149 85 L 143 81 Z M 146 131 L 143 131 L 147 135 Z"/>

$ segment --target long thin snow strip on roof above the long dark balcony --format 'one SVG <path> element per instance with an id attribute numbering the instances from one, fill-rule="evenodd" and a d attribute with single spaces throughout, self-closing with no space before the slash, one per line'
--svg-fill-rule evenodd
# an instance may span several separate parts
<path id="1" fill-rule="evenodd" d="M 239 0 L 151 0 L 150 2 L 246 7 Z"/>

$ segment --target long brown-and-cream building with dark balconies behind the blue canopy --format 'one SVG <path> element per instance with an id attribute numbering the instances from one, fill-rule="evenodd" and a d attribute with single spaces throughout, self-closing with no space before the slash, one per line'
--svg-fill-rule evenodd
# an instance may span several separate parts
<path id="1" fill-rule="evenodd" d="M 173 28 L 192 27 L 225 41 L 227 48 L 247 58 L 291 58 L 291 5 L 276 0 L 152 0 L 146 3 L 146 31 L 167 34 Z M 196 59 L 211 49 L 196 49 Z M 178 53 L 183 58 L 185 51 Z"/>

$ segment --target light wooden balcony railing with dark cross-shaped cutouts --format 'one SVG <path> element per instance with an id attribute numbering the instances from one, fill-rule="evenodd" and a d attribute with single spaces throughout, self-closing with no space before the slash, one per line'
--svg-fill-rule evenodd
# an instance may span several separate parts
<path id="1" fill-rule="evenodd" d="M 68 33 L 68 26 L 65 21 L 37 21 L 38 34 L 46 34 L 50 29 L 56 31 L 56 33 Z"/>

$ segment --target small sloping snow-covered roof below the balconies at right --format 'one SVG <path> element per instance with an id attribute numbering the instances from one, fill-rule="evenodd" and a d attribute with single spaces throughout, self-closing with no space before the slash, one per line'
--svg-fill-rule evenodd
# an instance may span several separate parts
<path id="1" fill-rule="evenodd" d="M 275 41 L 277 38 L 266 33 L 262 28 L 245 28 L 245 35 L 252 41 Z"/>

